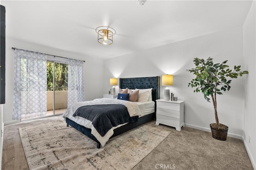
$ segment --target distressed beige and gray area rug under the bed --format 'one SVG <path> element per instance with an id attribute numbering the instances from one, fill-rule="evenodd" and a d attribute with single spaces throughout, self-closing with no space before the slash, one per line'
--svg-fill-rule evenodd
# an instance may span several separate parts
<path id="1" fill-rule="evenodd" d="M 170 134 L 170 131 L 141 125 L 97 149 L 94 141 L 66 127 L 62 119 L 20 127 L 19 132 L 28 166 L 33 170 L 129 170 Z"/>

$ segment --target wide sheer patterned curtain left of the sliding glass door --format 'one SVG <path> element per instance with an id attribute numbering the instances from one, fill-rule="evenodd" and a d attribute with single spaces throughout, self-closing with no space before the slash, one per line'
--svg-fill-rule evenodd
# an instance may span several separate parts
<path id="1" fill-rule="evenodd" d="M 46 115 L 46 54 L 15 49 L 12 119 Z"/>

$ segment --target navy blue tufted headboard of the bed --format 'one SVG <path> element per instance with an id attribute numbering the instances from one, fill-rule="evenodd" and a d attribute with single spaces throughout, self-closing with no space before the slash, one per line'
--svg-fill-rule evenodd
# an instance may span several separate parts
<path id="1" fill-rule="evenodd" d="M 156 102 L 156 99 L 160 99 L 160 76 L 156 77 L 138 77 L 138 78 L 120 78 L 120 88 L 153 88 L 152 100 Z"/>

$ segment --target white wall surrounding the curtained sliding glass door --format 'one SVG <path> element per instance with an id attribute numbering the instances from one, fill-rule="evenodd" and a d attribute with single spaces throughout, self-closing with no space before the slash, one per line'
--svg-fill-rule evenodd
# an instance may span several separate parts
<path id="1" fill-rule="evenodd" d="M 6 104 L 3 105 L 3 120 L 4 124 L 16 123 L 18 121 L 12 120 L 13 112 L 13 90 L 14 90 L 14 50 L 12 47 L 19 49 L 26 49 L 30 51 L 38 51 L 42 53 L 68 57 L 72 59 L 85 60 L 84 63 L 84 90 L 85 100 L 93 100 L 95 98 L 102 98 L 103 90 L 103 60 L 93 57 L 83 56 L 77 53 L 62 51 L 18 41 L 11 38 L 6 38 Z"/>

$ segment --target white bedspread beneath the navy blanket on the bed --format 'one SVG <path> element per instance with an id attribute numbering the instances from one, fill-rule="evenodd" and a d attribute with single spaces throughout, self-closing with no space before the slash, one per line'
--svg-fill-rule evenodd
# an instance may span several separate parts
<path id="1" fill-rule="evenodd" d="M 92 122 L 88 119 L 84 119 L 83 117 L 73 117 L 73 114 L 75 113 L 76 109 L 78 109 L 81 106 L 87 106 L 87 105 L 97 105 L 97 104 L 122 104 L 127 107 L 130 117 L 132 116 L 142 116 L 144 115 L 144 108 L 141 108 L 136 104 L 136 102 L 130 102 L 126 100 L 118 100 L 118 99 L 110 99 L 110 98 L 101 98 L 101 99 L 94 99 L 91 101 L 86 102 L 78 102 L 76 104 L 73 104 L 71 107 L 67 108 L 66 111 L 63 113 L 63 117 L 66 120 L 66 117 L 68 119 L 76 122 L 79 125 L 82 125 L 84 127 L 92 129 L 92 135 L 96 137 L 96 139 L 100 142 L 102 147 L 106 144 L 108 139 L 114 134 L 114 129 L 117 127 L 120 127 L 122 125 L 118 125 L 117 127 L 113 127 L 110 129 L 104 137 L 102 137 L 96 129 L 93 127 Z M 123 124 L 124 125 L 124 124 Z"/>

